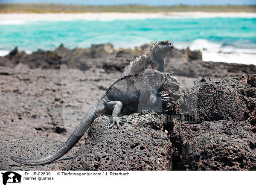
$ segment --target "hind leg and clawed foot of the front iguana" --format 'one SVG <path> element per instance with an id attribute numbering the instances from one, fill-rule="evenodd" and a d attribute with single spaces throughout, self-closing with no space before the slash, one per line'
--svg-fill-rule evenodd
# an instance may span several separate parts
<path id="1" fill-rule="evenodd" d="M 110 125 L 108 128 L 112 128 L 116 124 L 117 128 L 120 129 L 120 125 L 124 125 L 124 122 L 126 122 L 124 119 L 119 119 L 119 114 L 122 109 L 122 102 L 120 101 L 107 102 L 107 108 L 109 110 L 113 110 L 112 125 Z"/>

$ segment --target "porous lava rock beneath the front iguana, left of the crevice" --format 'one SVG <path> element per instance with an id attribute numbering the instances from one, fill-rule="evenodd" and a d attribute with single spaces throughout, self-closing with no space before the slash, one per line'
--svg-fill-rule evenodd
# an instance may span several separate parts
<path id="1" fill-rule="evenodd" d="M 155 112 L 124 116 L 121 130 L 108 129 L 110 117 L 100 116 L 66 170 L 167 170 L 170 140 L 163 132 L 163 115 Z"/>

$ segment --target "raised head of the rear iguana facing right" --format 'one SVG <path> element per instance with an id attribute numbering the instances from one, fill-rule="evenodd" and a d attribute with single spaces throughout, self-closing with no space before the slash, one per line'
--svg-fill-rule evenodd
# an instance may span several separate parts
<path id="1" fill-rule="evenodd" d="M 169 52 L 172 49 L 173 49 L 172 42 L 169 40 L 163 40 L 163 41 L 158 41 L 151 44 L 150 52 L 165 56 L 167 52 Z"/>

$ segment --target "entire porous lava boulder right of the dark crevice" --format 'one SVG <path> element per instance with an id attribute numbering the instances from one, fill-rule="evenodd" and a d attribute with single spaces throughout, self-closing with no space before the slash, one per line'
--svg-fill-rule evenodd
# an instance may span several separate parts
<path id="1" fill-rule="evenodd" d="M 256 75 L 195 82 L 167 112 L 180 116 L 167 125 L 172 170 L 256 169 L 255 83 Z"/>

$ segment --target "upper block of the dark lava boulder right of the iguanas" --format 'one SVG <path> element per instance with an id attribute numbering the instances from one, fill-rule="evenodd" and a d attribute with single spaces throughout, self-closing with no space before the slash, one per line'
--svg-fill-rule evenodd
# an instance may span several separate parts
<path id="1" fill-rule="evenodd" d="M 203 78 L 180 100 L 180 109 L 203 121 L 245 121 L 256 108 L 255 75 Z"/>

